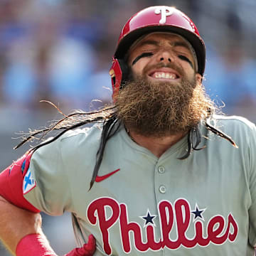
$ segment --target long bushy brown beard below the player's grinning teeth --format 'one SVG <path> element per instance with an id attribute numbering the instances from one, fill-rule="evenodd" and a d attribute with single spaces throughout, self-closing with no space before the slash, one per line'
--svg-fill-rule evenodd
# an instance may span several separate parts
<path id="1" fill-rule="evenodd" d="M 176 68 L 178 69 L 178 68 Z M 196 78 L 151 82 L 142 76 L 127 82 L 116 99 L 117 115 L 137 134 L 163 137 L 186 132 L 207 116 L 213 104 Z"/>

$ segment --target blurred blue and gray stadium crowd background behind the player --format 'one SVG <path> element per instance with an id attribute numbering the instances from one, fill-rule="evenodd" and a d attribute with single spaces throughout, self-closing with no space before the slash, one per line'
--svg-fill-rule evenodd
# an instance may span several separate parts
<path id="1" fill-rule="evenodd" d="M 108 70 L 121 28 L 151 5 L 176 6 L 193 19 L 206 42 L 206 91 L 225 102 L 225 114 L 256 121 L 255 0 L 1 0 L 0 170 L 28 148 L 13 150 L 16 132 L 59 117 L 40 100 L 65 114 L 110 102 Z M 69 217 L 43 215 L 59 255 L 75 247 Z M 0 255 L 9 253 L 1 246 Z"/>

